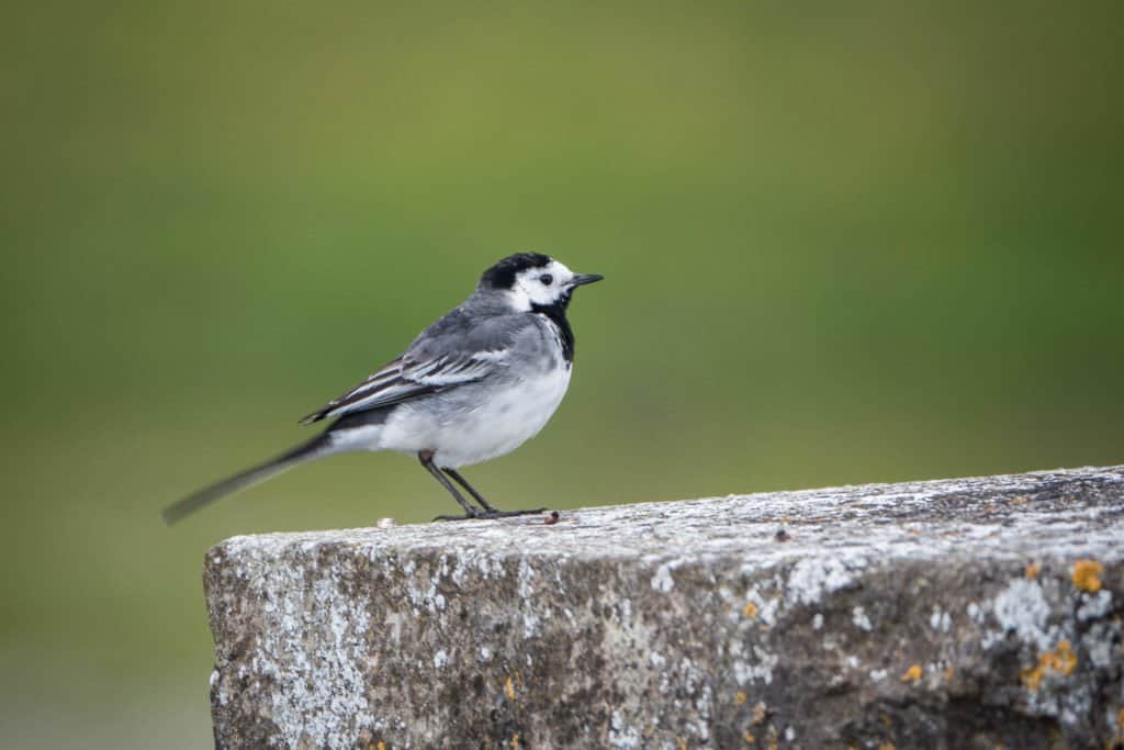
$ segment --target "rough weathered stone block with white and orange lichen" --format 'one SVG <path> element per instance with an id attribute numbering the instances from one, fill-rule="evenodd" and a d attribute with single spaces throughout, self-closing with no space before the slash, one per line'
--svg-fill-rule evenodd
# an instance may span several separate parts
<path id="1" fill-rule="evenodd" d="M 1124 467 L 239 536 L 216 741 L 1112 747 L 1122 542 Z"/>

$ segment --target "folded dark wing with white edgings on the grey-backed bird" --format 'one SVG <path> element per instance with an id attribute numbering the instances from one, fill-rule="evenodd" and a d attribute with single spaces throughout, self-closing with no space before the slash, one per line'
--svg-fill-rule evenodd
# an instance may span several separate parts
<path id="1" fill-rule="evenodd" d="M 502 351 L 444 354 L 425 359 L 416 359 L 407 352 L 300 422 L 311 424 L 353 412 L 393 406 L 418 396 L 475 382 L 499 367 L 504 358 Z"/>

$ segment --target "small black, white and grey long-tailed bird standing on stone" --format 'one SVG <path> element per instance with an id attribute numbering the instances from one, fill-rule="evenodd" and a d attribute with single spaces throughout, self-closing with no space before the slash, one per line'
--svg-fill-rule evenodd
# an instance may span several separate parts
<path id="1" fill-rule="evenodd" d="M 504 257 L 481 274 L 468 299 L 404 353 L 300 421 L 332 421 L 326 430 L 169 505 L 165 522 L 176 523 L 301 463 L 354 451 L 416 455 L 463 510 L 434 521 L 542 513 L 500 510 L 460 469 L 510 453 L 546 425 L 573 370 L 574 337 L 566 317 L 572 295 L 602 279 L 574 273 L 540 252 Z"/>

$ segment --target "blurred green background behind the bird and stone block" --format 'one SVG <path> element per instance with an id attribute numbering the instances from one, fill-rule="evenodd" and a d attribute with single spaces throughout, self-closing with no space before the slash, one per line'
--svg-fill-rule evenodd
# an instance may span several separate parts
<path id="1" fill-rule="evenodd" d="M 158 513 L 517 250 L 608 280 L 500 504 L 1124 461 L 1121 8 L 9 6 L 6 744 L 206 747 L 210 544 L 454 510 L 379 454 Z"/>

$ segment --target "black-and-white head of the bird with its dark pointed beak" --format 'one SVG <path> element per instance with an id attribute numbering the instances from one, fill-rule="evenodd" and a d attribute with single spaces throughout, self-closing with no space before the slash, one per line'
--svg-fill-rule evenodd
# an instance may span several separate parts
<path id="1" fill-rule="evenodd" d="M 520 313 L 549 307 L 564 309 L 574 289 L 602 278 L 596 273 L 574 273 L 542 253 L 516 253 L 484 271 L 478 289 L 502 296 L 511 309 Z"/>

